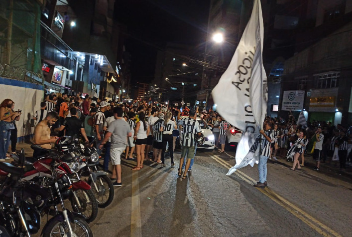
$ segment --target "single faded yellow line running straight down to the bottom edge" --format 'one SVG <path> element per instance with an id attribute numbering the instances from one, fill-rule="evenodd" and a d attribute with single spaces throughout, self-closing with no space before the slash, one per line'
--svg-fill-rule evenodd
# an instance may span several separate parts
<path id="1" fill-rule="evenodd" d="M 132 171 L 131 237 L 141 237 L 141 228 L 138 172 Z"/>

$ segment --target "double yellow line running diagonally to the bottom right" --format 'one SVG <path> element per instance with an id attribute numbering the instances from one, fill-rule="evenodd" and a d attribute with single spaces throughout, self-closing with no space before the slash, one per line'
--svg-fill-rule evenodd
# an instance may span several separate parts
<path id="1" fill-rule="evenodd" d="M 211 158 L 228 169 L 230 169 L 232 167 L 232 165 L 230 165 L 228 162 L 222 160 L 217 155 L 211 155 Z M 239 170 L 236 170 L 236 172 L 234 174 L 250 185 L 253 185 L 253 183 L 256 183 L 256 181 L 254 179 L 252 179 L 251 177 L 247 176 L 246 174 L 244 174 L 243 172 L 241 172 Z M 342 237 L 341 235 L 339 235 L 337 232 L 335 232 L 331 228 L 327 227 L 326 225 L 319 222 L 318 220 L 316 220 L 315 218 L 313 218 L 312 216 L 310 216 L 306 212 L 302 211 L 297 206 L 293 205 L 292 203 L 290 203 L 289 201 L 287 201 L 283 197 L 276 194 L 274 191 L 270 190 L 268 187 L 266 187 L 264 189 L 258 188 L 258 190 L 261 193 L 263 193 L 264 195 L 266 195 L 268 198 L 273 200 L 275 203 L 277 203 L 278 205 L 280 205 L 281 207 L 283 207 L 284 209 L 289 211 L 291 214 L 293 214 L 295 217 L 300 219 L 302 222 L 307 224 L 309 227 L 311 227 L 313 230 L 315 230 L 316 232 L 318 232 L 322 236 Z"/>

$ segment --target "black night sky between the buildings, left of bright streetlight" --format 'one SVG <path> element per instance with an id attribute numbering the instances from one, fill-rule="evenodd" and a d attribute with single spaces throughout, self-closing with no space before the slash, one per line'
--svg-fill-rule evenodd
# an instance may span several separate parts
<path id="1" fill-rule="evenodd" d="M 116 19 L 127 26 L 131 82 L 154 78 L 158 49 L 167 42 L 201 47 L 206 40 L 210 0 L 116 0 Z"/>

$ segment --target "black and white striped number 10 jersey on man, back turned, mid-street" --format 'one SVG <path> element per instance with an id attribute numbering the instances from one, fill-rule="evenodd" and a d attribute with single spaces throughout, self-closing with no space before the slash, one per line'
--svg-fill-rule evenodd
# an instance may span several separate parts
<path id="1" fill-rule="evenodd" d="M 183 118 L 178 124 L 182 126 L 182 146 L 195 146 L 196 142 L 194 135 L 202 131 L 199 122 L 193 118 Z"/>

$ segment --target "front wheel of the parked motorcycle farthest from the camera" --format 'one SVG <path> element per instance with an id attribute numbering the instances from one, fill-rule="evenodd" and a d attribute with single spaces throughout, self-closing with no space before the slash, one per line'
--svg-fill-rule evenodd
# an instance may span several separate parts
<path id="1" fill-rule="evenodd" d="M 109 179 L 108 176 L 102 175 L 97 177 L 97 181 L 95 182 L 98 190 L 96 190 L 93 180 L 90 180 L 88 183 L 92 187 L 92 192 L 98 202 L 99 208 L 108 207 L 114 199 L 114 185 L 113 182 Z"/>

